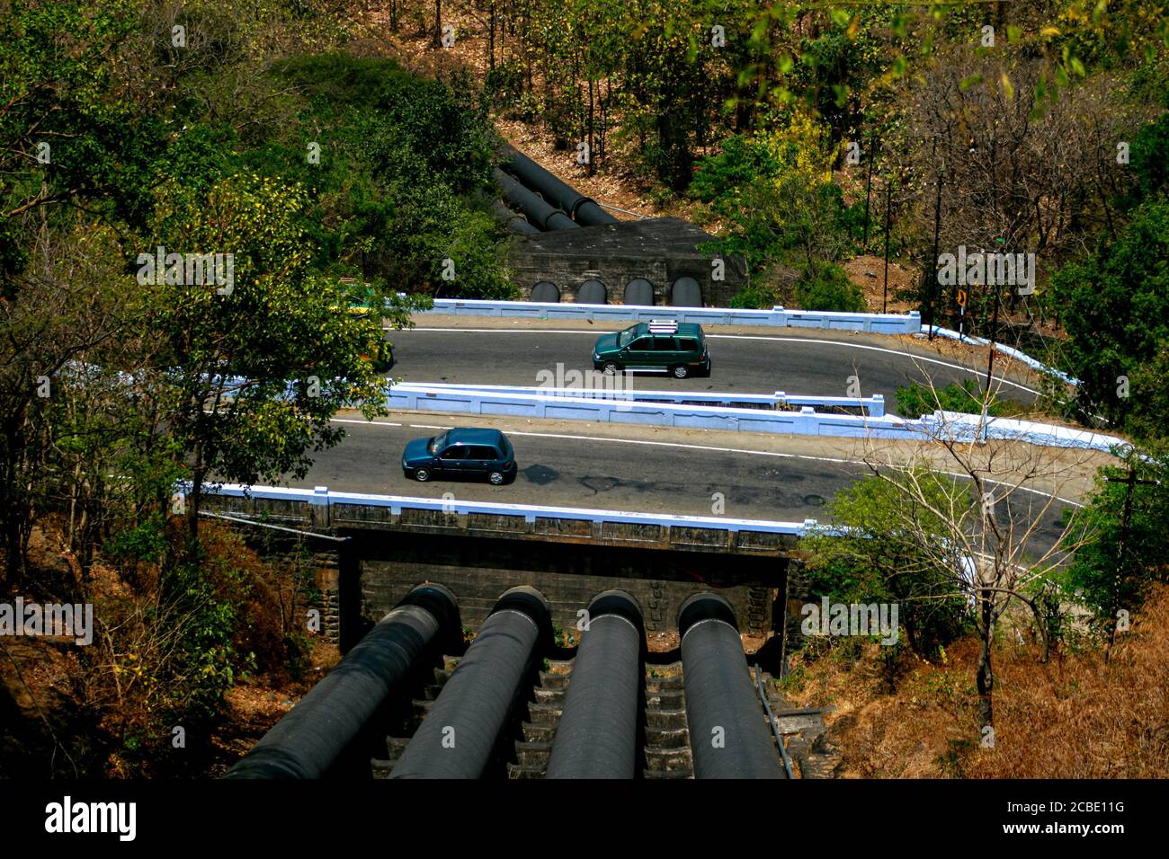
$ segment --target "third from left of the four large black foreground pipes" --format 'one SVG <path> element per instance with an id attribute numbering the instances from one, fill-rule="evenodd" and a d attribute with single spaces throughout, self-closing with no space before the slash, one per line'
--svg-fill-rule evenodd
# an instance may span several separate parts
<path id="1" fill-rule="evenodd" d="M 642 611 L 624 591 L 589 603 L 548 778 L 632 778 L 642 705 Z"/>

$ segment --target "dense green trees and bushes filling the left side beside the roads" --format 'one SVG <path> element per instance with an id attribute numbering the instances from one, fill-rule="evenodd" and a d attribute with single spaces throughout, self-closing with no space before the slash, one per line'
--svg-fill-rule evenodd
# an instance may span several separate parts
<path id="1" fill-rule="evenodd" d="M 175 723 L 206 751 L 256 651 L 303 658 L 258 640 L 268 583 L 200 532 L 201 487 L 303 477 L 339 409 L 383 411 L 383 324 L 511 296 L 477 86 L 341 54 L 359 30 L 300 0 L 0 15 L 0 590 L 98 603 L 85 691 L 132 770 Z M 62 593 L 29 590 L 36 525 Z"/>

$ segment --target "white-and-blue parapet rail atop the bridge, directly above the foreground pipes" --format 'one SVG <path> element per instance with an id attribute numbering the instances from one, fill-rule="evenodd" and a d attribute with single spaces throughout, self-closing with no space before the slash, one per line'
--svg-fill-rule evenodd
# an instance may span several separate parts
<path id="1" fill-rule="evenodd" d="M 189 489 L 180 483 L 179 494 Z M 496 504 L 491 501 L 459 501 L 440 498 L 411 498 L 409 496 L 374 496 L 360 492 L 333 492 L 326 486 L 290 489 L 285 486 L 244 486 L 242 484 L 207 484 L 203 494 L 228 498 L 261 498 L 279 501 L 302 501 L 317 506 L 333 504 L 357 504 L 371 507 L 389 507 L 394 515 L 403 510 L 428 510 L 450 514 L 484 513 L 487 515 L 524 517 L 527 522 L 539 519 L 570 519 L 590 522 L 622 522 L 634 525 L 664 525 L 670 527 L 711 528 L 714 531 L 754 531 L 767 534 L 793 534 L 802 536 L 819 526 L 815 519 L 802 522 L 782 522 L 766 519 L 733 519 L 731 517 L 667 515 L 660 513 L 635 513 L 615 510 L 592 510 L 588 507 L 545 507 L 534 504 Z"/>

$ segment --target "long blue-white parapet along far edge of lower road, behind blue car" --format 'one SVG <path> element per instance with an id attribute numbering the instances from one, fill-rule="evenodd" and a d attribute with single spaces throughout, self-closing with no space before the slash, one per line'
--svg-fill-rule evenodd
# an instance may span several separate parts
<path id="1" fill-rule="evenodd" d="M 1109 451 L 1127 446 L 1115 436 L 1032 421 L 935 411 L 916 420 L 895 415 L 859 416 L 817 413 L 810 406 L 798 411 L 772 411 L 721 406 L 683 406 L 624 399 L 588 399 L 547 394 L 506 393 L 400 383 L 390 388 L 387 406 L 394 410 L 461 415 L 497 415 L 596 423 L 721 429 L 843 438 L 909 441 L 1004 439 L 1043 446 Z"/>

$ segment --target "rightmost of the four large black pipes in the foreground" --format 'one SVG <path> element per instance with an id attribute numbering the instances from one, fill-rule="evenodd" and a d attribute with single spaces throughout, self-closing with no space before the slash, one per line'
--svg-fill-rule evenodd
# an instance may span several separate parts
<path id="1" fill-rule="evenodd" d="M 682 604 L 678 631 L 694 777 L 782 778 L 731 604 L 696 594 Z"/>

